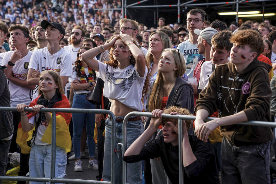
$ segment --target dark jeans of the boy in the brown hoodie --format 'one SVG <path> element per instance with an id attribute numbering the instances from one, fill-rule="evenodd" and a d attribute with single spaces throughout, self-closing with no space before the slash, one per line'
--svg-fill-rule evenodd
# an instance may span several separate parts
<path id="1" fill-rule="evenodd" d="M 223 137 L 221 147 L 222 184 L 270 183 L 270 141 L 237 147 Z"/>

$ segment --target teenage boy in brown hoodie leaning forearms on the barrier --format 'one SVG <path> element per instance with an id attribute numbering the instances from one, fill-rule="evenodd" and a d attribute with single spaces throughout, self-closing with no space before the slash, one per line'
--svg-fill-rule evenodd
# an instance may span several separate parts
<path id="1" fill-rule="evenodd" d="M 271 66 L 257 60 L 264 44 L 255 31 L 238 31 L 230 42 L 230 62 L 216 67 L 196 101 L 195 132 L 207 142 L 220 127 L 222 183 L 270 183 L 271 129 L 237 123 L 270 121 Z M 219 118 L 204 123 L 217 110 Z"/>

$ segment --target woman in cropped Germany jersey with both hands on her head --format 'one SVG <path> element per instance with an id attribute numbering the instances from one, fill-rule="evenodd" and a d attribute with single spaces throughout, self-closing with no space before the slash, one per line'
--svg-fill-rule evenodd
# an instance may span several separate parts
<path id="1" fill-rule="evenodd" d="M 101 63 L 94 59 L 104 50 L 110 50 L 109 61 Z M 127 113 L 142 111 L 142 96 L 148 89 L 148 68 L 140 48 L 129 35 L 115 36 L 109 43 L 92 48 L 82 54 L 82 60 L 104 80 L 103 95 L 111 101 L 110 111 L 116 116 L 116 144 L 122 142 L 122 120 Z M 145 84 L 145 85 L 144 85 Z M 130 117 L 127 122 L 128 146 L 143 132 L 140 116 Z M 111 118 L 106 120 L 104 166 L 102 178 L 111 179 Z M 120 154 L 119 154 L 120 155 Z M 116 158 L 114 183 L 122 183 L 122 156 Z M 135 174 L 134 174 L 135 173 Z M 128 183 L 142 182 L 142 162 L 127 165 Z"/>

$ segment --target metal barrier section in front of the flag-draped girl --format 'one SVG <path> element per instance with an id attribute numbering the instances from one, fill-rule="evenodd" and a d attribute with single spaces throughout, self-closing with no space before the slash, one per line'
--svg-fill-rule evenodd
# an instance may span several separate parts
<path id="1" fill-rule="evenodd" d="M 0 107 L 0 111 L 17 111 L 16 107 Z M 32 112 L 32 108 L 24 108 L 24 111 Z M 111 147 L 116 146 L 116 119 L 111 111 L 104 109 L 66 109 L 66 108 L 42 108 L 40 112 L 51 112 L 52 113 L 52 142 L 51 142 L 51 172 L 50 178 L 36 178 L 36 177 L 26 177 L 26 176 L 0 176 L 0 180 L 7 181 L 41 181 L 50 183 L 99 183 L 99 184 L 111 184 L 115 181 L 115 152 L 111 149 L 111 181 L 91 181 L 82 179 L 66 179 L 66 178 L 55 178 L 55 147 L 56 147 L 56 113 L 57 112 L 68 112 L 68 113 L 97 113 L 97 114 L 108 114 L 111 116 Z M 113 182 L 114 183 L 114 182 Z"/>

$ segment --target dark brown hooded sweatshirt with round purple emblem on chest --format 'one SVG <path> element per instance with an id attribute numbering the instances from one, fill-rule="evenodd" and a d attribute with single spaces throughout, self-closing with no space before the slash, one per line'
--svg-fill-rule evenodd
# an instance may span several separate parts
<path id="1" fill-rule="evenodd" d="M 195 112 L 206 109 L 211 116 L 218 110 L 220 118 L 244 111 L 248 121 L 270 121 L 270 69 L 270 65 L 257 60 L 241 73 L 231 62 L 217 66 L 208 87 L 196 100 Z M 270 127 L 237 124 L 221 126 L 220 133 L 235 146 L 264 143 L 274 137 Z"/>

